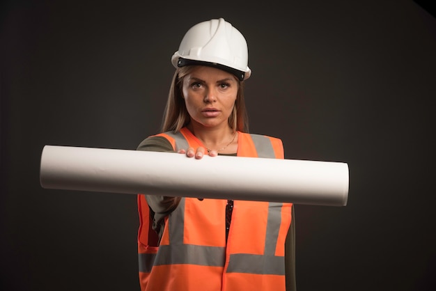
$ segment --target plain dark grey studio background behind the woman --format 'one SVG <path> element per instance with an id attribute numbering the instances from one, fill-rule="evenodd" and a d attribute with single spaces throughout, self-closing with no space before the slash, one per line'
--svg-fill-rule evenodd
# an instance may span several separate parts
<path id="1" fill-rule="evenodd" d="M 249 43 L 251 132 L 350 168 L 347 206 L 296 205 L 298 290 L 435 290 L 436 20 L 410 0 L 3 1 L 0 289 L 139 290 L 136 196 L 42 189 L 41 151 L 134 150 L 215 17 Z"/>

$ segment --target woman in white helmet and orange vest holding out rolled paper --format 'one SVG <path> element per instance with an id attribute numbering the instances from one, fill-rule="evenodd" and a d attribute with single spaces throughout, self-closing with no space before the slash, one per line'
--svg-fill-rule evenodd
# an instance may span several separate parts
<path id="1" fill-rule="evenodd" d="M 194 25 L 172 63 L 162 133 L 138 150 L 284 158 L 280 139 L 247 133 L 247 42 L 230 23 Z M 141 290 L 295 290 L 292 204 L 140 194 L 138 207 Z"/>

